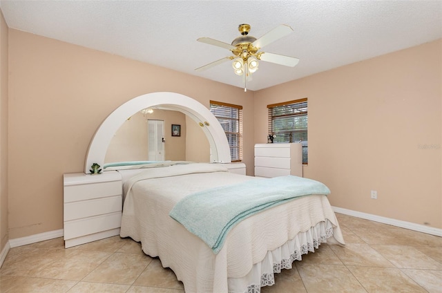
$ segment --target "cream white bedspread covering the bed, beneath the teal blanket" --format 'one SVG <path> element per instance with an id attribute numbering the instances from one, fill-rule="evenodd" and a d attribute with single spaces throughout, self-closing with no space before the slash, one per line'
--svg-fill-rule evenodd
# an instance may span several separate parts
<path id="1" fill-rule="evenodd" d="M 162 265 L 171 267 L 186 292 L 227 292 L 228 278 L 246 276 L 267 252 L 325 220 L 332 223 L 334 238 L 344 243 L 327 196 L 315 195 L 243 220 L 229 232 L 220 252 L 213 254 L 169 212 L 178 200 L 191 193 L 256 178 L 229 173 L 217 164 L 178 165 L 144 172 L 151 174 L 151 179 L 129 180 L 125 185 L 128 193 L 120 235 L 141 241 L 146 254 L 160 256 Z"/>

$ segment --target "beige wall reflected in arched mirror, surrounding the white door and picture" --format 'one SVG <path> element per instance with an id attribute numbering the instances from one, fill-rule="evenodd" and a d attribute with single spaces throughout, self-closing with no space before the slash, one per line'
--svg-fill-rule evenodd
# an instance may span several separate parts
<path id="1" fill-rule="evenodd" d="M 148 120 L 164 121 L 164 160 L 186 160 L 186 115 L 155 109 L 151 114 L 135 113 L 119 127 L 109 144 L 104 162 L 148 160 Z M 181 136 L 172 137 L 172 124 L 181 125 Z"/>

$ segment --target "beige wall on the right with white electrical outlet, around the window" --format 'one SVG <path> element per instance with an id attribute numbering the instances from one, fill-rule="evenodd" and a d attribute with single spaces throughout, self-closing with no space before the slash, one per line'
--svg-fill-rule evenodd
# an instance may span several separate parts
<path id="1" fill-rule="evenodd" d="M 267 104 L 307 97 L 305 176 L 332 205 L 442 228 L 441 53 L 433 41 L 258 91 L 255 142 Z"/>

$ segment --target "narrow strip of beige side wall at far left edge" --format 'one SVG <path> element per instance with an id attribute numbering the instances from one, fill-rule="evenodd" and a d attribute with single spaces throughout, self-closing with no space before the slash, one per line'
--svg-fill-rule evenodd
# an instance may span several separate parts
<path id="1" fill-rule="evenodd" d="M 8 243 L 8 26 L 0 10 L 0 252 Z"/>

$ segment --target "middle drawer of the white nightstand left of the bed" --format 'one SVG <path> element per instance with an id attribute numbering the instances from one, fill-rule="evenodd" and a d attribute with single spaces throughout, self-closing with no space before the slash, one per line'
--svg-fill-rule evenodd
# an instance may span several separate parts
<path id="1" fill-rule="evenodd" d="M 64 220 L 76 220 L 115 211 L 122 211 L 122 196 L 68 202 L 64 204 Z"/>

